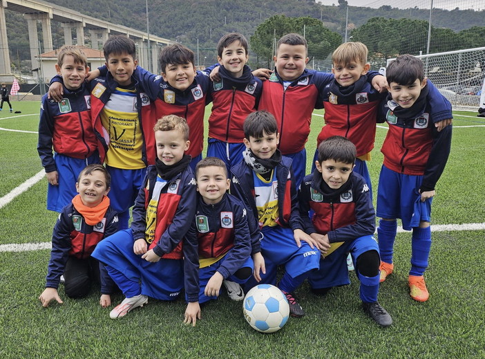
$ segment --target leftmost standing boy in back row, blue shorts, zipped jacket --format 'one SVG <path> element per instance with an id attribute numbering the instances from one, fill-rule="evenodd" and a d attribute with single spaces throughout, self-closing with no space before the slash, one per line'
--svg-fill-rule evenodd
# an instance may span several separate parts
<path id="1" fill-rule="evenodd" d="M 77 193 L 78 174 L 86 165 L 99 163 L 99 153 L 84 84 L 86 55 L 75 46 L 63 46 L 55 68 L 64 82 L 64 96 L 59 102 L 48 95 L 42 98 L 37 151 L 48 181 L 47 209 L 61 212 Z"/>

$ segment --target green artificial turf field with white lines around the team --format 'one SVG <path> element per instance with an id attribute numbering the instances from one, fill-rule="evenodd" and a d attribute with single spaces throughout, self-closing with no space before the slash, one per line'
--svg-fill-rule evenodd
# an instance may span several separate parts
<path id="1" fill-rule="evenodd" d="M 113 306 L 99 306 L 99 288 L 70 300 L 61 286 L 64 304 L 42 308 L 37 297 L 44 290 L 50 252 L 10 244 L 46 248 L 57 214 L 46 210 L 45 178 L 9 200 L 12 190 L 42 169 L 35 134 L 39 102 L 12 105 L 22 113 L 0 112 L 1 358 L 485 358 L 485 119 L 477 113 L 455 111 L 452 151 L 432 207 L 436 230 L 426 271 L 428 302 L 415 302 L 408 294 L 410 232 L 401 232 L 394 274 L 379 292 L 394 320 L 391 327 L 383 329 L 363 313 L 359 281 L 350 273 L 350 286 L 323 298 L 305 283 L 296 291 L 305 317 L 262 334 L 245 322 L 242 302 L 226 295 L 202 308 L 196 327 L 182 324 L 183 300 L 149 300 L 144 308 L 111 320 Z M 316 111 L 312 120 L 308 171 L 322 113 Z M 378 127 L 369 163 L 374 198 L 385 136 L 386 129 Z M 112 302 L 123 298 L 114 295 Z"/>

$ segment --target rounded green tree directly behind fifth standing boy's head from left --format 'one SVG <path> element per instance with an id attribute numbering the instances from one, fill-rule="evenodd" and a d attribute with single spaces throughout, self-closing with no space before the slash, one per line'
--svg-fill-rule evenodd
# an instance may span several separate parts
<path id="1" fill-rule="evenodd" d="M 256 28 L 250 39 L 251 50 L 269 64 L 274 55 L 276 42 L 287 33 L 305 35 L 308 56 L 315 59 L 325 59 L 342 42 L 339 34 L 325 28 L 318 19 L 275 15 Z"/>

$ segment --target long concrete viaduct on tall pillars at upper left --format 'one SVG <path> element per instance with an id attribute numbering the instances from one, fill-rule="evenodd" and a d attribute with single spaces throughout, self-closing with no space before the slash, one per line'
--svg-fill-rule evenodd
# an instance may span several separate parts
<path id="1" fill-rule="evenodd" d="M 8 53 L 7 26 L 5 20 L 5 9 L 21 12 L 28 24 L 28 37 L 30 42 L 30 59 L 32 68 L 39 62 L 39 39 L 37 36 L 37 22 L 42 26 L 42 40 L 44 53 L 53 50 L 53 39 L 50 21 L 59 21 L 64 28 L 64 42 L 66 45 L 73 44 L 73 30 L 76 33 L 77 44 L 84 45 L 84 28 L 88 29 L 91 35 L 91 47 L 99 48 L 106 42 L 109 34 L 124 34 L 135 42 L 138 47 L 139 64 L 145 68 L 151 68 L 158 73 L 157 59 L 160 46 L 173 44 L 173 41 L 147 35 L 140 30 L 128 28 L 108 21 L 95 19 L 83 15 L 80 12 L 69 10 L 61 6 L 36 0 L 0 0 L 0 73 L 11 73 L 10 56 Z M 150 46 L 149 46 L 150 45 Z M 149 48 L 151 49 L 149 55 Z M 149 64 L 149 59 L 151 66 Z"/>

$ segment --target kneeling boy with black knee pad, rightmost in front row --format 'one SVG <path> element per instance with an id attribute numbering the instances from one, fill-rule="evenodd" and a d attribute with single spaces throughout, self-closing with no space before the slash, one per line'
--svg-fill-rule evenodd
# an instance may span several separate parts
<path id="1" fill-rule="evenodd" d="M 355 158 L 356 148 L 347 138 L 323 140 L 316 169 L 301 184 L 304 230 L 321 252 L 320 268 L 310 273 L 308 282 L 316 295 L 350 284 L 346 260 L 350 252 L 361 282 L 363 310 L 379 325 L 390 326 L 392 318 L 377 302 L 380 260 L 374 208 L 367 183 L 352 171 Z"/>

